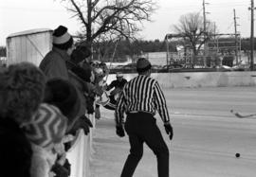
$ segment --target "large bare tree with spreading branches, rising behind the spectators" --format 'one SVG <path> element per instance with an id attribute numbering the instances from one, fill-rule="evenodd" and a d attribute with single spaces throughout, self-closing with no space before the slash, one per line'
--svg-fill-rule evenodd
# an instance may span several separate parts
<path id="1" fill-rule="evenodd" d="M 88 44 L 119 36 L 134 38 L 143 21 L 151 21 L 154 0 L 60 0 L 77 17 L 82 28 L 79 36 Z"/>

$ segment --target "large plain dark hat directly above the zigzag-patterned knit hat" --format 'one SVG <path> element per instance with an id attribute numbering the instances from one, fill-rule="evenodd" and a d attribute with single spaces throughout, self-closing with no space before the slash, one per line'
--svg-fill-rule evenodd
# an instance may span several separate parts
<path id="1" fill-rule="evenodd" d="M 59 108 L 71 125 L 77 117 L 81 101 L 75 86 L 68 80 L 50 79 L 46 82 L 44 102 Z"/>

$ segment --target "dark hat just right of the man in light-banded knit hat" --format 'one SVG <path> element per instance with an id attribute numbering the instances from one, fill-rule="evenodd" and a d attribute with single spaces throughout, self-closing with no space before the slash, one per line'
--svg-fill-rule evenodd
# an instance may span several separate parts
<path id="1" fill-rule="evenodd" d="M 71 61 L 75 63 L 82 62 L 85 58 L 92 55 L 91 50 L 85 45 L 78 45 L 71 54 Z"/>

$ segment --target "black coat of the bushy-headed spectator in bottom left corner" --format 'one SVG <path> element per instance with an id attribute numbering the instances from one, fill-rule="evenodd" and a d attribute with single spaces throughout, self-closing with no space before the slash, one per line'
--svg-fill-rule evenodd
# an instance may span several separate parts
<path id="1" fill-rule="evenodd" d="M 30 176 L 32 150 L 25 133 L 9 117 L 0 117 L 0 176 Z"/>

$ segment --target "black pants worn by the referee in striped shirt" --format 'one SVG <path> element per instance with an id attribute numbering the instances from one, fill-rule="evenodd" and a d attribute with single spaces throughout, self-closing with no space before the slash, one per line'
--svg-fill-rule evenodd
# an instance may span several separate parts
<path id="1" fill-rule="evenodd" d="M 124 127 L 129 135 L 131 149 L 121 177 L 133 176 L 143 155 L 144 142 L 156 155 L 158 177 L 169 177 L 169 150 L 155 122 L 155 117 L 148 113 L 127 115 Z"/>

